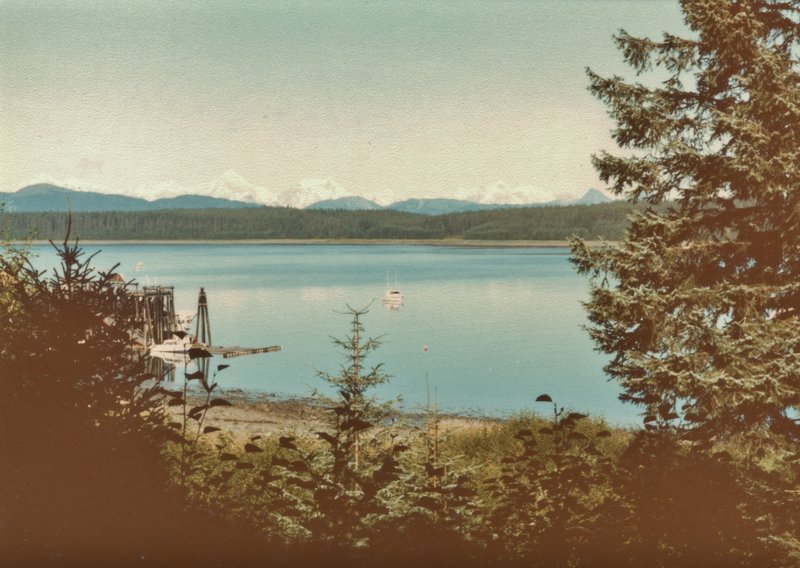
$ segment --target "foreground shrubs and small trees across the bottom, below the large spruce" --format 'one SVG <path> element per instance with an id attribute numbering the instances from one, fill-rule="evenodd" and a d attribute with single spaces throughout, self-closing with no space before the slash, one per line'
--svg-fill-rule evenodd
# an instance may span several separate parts
<path id="1" fill-rule="evenodd" d="M 327 431 L 235 439 L 209 423 L 228 404 L 225 365 L 210 372 L 195 352 L 198 370 L 166 390 L 130 350 L 129 297 L 77 244 L 59 254 L 49 280 L 25 249 L 2 257 L 2 542 L 28 543 L 3 549 L 12 563 L 91 551 L 153 565 L 769 566 L 796 552 L 782 507 L 796 463 L 774 450 L 747 463 L 733 443 L 708 454 L 555 404 L 550 421 L 445 432 L 434 406 L 416 429 L 390 424 L 371 394 L 388 377 L 366 365 L 380 344 L 364 337 L 366 310 L 349 308 L 334 340 L 340 372 L 320 373 L 335 393 Z"/>

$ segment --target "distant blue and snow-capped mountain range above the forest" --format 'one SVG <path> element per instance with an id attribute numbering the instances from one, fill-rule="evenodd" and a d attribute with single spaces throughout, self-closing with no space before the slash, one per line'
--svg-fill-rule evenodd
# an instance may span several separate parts
<path id="1" fill-rule="evenodd" d="M 235 174 L 234 174 L 235 175 Z M 321 183 L 319 183 L 321 182 Z M 574 200 L 553 200 L 544 203 L 486 203 L 461 199 L 406 199 L 390 205 L 380 205 L 376 201 L 357 196 L 341 195 L 343 190 L 328 180 L 303 180 L 297 187 L 283 192 L 281 199 L 264 203 L 258 186 L 247 180 L 233 176 L 223 177 L 208 187 L 194 188 L 201 194 L 172 195 L 174 187 L 159 186 L 155 194 L 165 195 L 157 199 L 131 197 L 127 195 L 78 191 L 59 185 L 39 183 L 23 187 L 16 192 L 0 193 L 0 203 L 8 212 L 36 211 L 155 211 L 165 209 L 232 209 L 242 207 L 277 206 L 297 209 L 341 209 L 373 210 L 391 209 L 424 215 L 442 215 L 464 211 L 501 209 L 508 207 L 592 205 L 612 201 L 597 189 L 588 190 L 582 197 Z M 337 197 L 338 195 L 338 197 Z M 518 201 L 514 199 L 513 201 Z"/>

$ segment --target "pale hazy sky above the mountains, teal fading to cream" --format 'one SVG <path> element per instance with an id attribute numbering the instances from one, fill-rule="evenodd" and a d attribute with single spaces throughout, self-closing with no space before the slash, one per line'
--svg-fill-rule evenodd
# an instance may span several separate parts
<path id="1" fill-rule="evenodd" d="M 620 28 L 685 31 L 675 0 L 0 0 L 0 191 L 577 197 Z"/>

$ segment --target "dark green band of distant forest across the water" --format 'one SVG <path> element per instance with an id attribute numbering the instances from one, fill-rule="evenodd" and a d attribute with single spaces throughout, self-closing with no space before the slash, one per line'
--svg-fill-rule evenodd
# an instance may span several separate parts
<path id="1" fill-rule="evenodd" d="M 622 238 L 632 205 L 623 202 L 526 207 L 431 217 L 399 211 L 202 209 L 72 213 L 73 234 L 95 240 Z M 65 213 L 6 213 L 12 238 L 58 239 Z"/>

